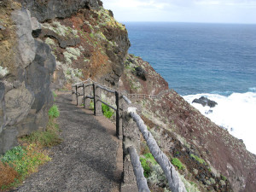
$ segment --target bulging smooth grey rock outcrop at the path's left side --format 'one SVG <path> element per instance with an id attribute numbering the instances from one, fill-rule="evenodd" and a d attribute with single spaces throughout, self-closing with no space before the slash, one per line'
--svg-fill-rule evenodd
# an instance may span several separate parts
<path id="1" fill-rule="evenodd" d="M 44 129 L 53 103 L 49 89 L 55 58 L 49 46 L 32 37 L 29 10 L 5 1 L 0 7 L 0 154 L 17 143 L 17 137 Z"/>

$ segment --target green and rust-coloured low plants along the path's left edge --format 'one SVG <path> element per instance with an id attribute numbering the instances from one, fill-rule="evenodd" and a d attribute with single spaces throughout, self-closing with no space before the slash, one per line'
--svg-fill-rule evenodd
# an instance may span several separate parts
<path id="1" fill-rule="evenodd" d="M 0 156 L 0 191 L 6 191 L 20 184 L 38 167 L 51 160 L 45 147 L 61 143 L 56 119 L 58 108 L 49 109 L 49 122 L 45 131 L 34 131 L 20 138 L 20 145 Z"/>

